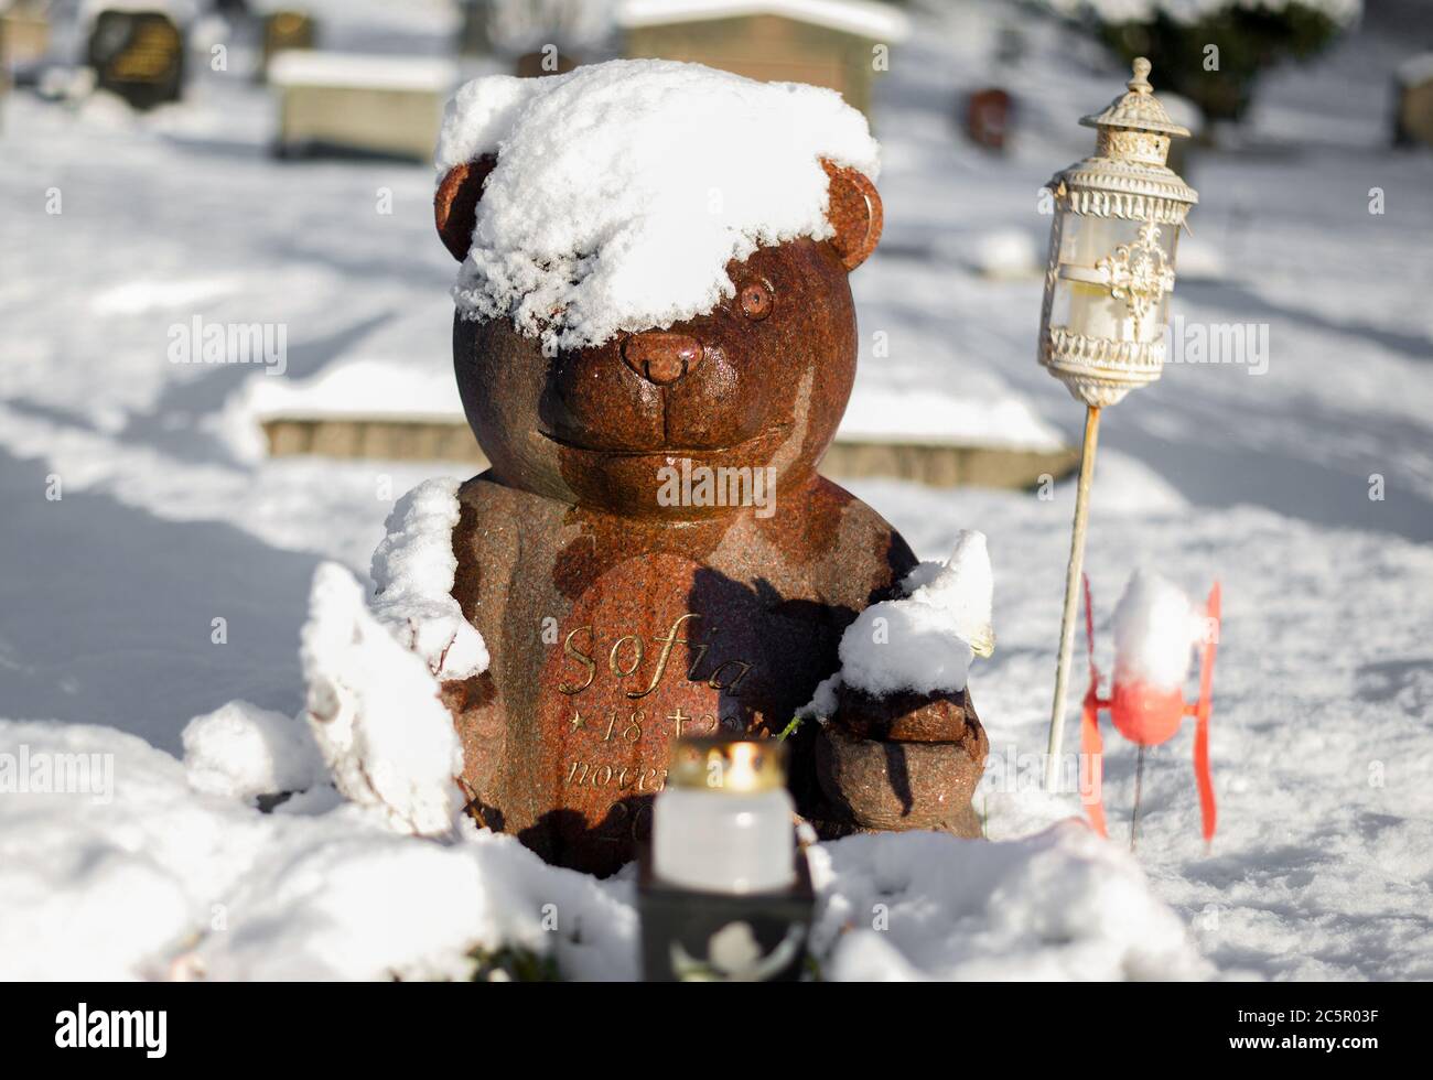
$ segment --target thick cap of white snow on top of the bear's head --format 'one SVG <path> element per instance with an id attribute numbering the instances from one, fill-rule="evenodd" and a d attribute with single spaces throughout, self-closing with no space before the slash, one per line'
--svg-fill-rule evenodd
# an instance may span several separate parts
<path id="1" fill-rule="evenodd" d="M 735 295 L 731 259 L 831 235 L 823 158 L 880 170 L 866 117 L 834 90 L 669 60 L 467 83 L 438 176 L 494 152 L 453 295 L 549 355 L 712 311 Z"/>

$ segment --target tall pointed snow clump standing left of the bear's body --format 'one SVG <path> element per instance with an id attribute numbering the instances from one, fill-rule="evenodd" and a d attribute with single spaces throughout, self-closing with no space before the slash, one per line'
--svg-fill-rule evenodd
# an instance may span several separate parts
<path id="1" fill-rule="evenodd" d="M 428 665 L 370 614 L 337 563 L 314 573 L 299 659 L 308 720 L 353 802 L 401 832 L 441 835 L 463 808 L 463 748 Z"/>

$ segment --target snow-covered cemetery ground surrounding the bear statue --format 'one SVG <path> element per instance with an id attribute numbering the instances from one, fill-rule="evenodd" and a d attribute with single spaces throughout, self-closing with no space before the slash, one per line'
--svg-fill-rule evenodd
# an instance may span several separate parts
<path id="1" fill-rule="evenodd" d="M 1042 249 L 1037 189 L 1086 153 L 1075 119 L 1122 76 L 1027 21 L 1023 60 L 996 69 L 1003 10 L 923 16 L 880 86 L 886 238 L 853 284 L 863 341 L 886 331 L 890 352 L 860 381 L 877 402 L 1017 400 L 1073 441 L 1079 408 L 1033 361 L 1039 282 L 980 276 L 969 251 L 996 229 Z M 997 842 L 818 848 L 828 975 L 1433 977 L 1433 156 L 1384 149 L 1381 74 L 1407 52 L 1367 32 L 1280 73 L 1241 149 L 1195 156 L 1175 312 L 1252 324 L 1267 364 L 1171 365 L 1103 425 L 1086 560 L 1102 665 L 1132 566 L 1197 596 L 1224 584 L 1212 848 L 1189 731 L 1146 761 L 1136 859 L 1119 844 L 1134 752 L 1108 728 L 1113 842 L 1046 831 L 1079 812 L 1036 782 L 1072 488 L 857 484 L 923 557 L 960 529 L 989 537 L 999 647 L 970 680 Z M 957 90 L 992 79 L 1019 87 L 1005 159 L 952 126 Z M 357 361 L 444 371 L 453 275 L 428 169 L 277 163 L 271 129 L 261 89 L 202 70 L 143 119 L 4 105 L 0 752 L 113 756 L 99 798 L 0 796 L 0 973 L 440 975 L 516 945 L 629 977 L 629 878 L 552 871 L 504 838 L 396 836 L 322 785 L 259 814 L 193 736 L 181 761 L 191 718 L 234 699 L 255 709 L 208 728 L 239 761 L 298 752 L 282 725 L 315 567 L 363 577 L 393 501 L 453 471 L 262 457 L 255 387 Z M 195 317 L 282 327 L 285 372 L 169 362 Z M 884 934 L 861 930 L 876 902 Z"/>

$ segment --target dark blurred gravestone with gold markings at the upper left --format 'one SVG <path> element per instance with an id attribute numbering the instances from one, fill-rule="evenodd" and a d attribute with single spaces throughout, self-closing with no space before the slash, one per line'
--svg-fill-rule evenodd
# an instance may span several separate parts
<path id="1" fill-rule="evenodd" d="M 100 11 L 87 60 L 96 86 L 135 109 L 176 102 L 183 92 L 183 36 L 160 11 Z"/>

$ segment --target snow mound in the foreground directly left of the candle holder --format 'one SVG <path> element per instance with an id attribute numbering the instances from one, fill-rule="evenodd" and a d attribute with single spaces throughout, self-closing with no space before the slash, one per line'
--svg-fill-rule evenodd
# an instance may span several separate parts
<path id="1" fill-rule="evenodd" d="M 635 978 L 625 894 L 470 826 L 456 844 L 357 829 L 317 844 L 305 831 L 249 871 L 229 905 L 235 921 L 196 954 L 225 980 L 467 978 L 473 948 L 510 947 L 556 951 L 566 978 Z"/>

